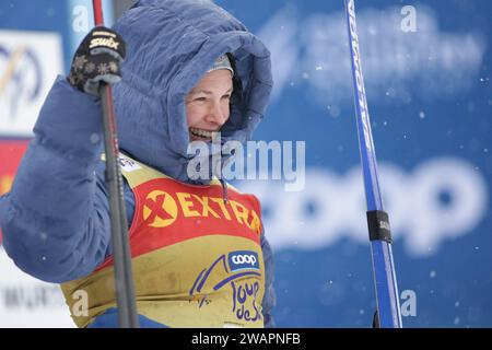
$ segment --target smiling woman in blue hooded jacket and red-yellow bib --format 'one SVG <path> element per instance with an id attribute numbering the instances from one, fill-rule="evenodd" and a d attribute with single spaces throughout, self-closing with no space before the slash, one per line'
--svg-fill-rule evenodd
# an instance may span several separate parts
<path id="1" fill-rule="evenodd" d="M 113 93 L 140 326 L 273 326 L 259 200 L 227 191 L 224 178 L 187 173 L 190 141 L 216 131 L 221 144 L 250 139 L 272 86 L 268 49 L 211 1 L 141 0 L 82 40 L 68 79 L 46 97 L 11 192 L 0 197 L 9 256 L 61 284 L 79 327 L 118 325 L 101 81 L 120 82 Z M 234 262 L 246 256 L 255 264 Z"/>

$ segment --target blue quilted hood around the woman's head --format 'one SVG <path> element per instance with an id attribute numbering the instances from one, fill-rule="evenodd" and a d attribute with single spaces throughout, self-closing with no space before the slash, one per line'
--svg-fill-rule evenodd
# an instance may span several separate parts
<path id="1" fill-rule="evenodd" d="M 114 86 L 120 149 L 181 182 L 189 144 L 185 96 L 214 60 L 235 59 L 231 115 L 221 143 L 250 139 L 272 89 L 270 52 L 226 11 L 207 0 L 141 0 L 115 24 L 127 43 Z M 227 155 L 222 155 L 224 164 Z M 201 182 L 202 183 L 202 182 Z"/>

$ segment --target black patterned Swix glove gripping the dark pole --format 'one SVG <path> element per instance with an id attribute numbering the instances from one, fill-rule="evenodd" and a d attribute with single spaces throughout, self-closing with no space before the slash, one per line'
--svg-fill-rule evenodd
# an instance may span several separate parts
<path id="1" fill-rule="evenodd" d="M 121 62 L 126 55 L 125 40 L 105 26 L 93 28 L 73 56 L 68 81 L 82 92 L 98 96 L 101 82 L 121 80 Z"/>

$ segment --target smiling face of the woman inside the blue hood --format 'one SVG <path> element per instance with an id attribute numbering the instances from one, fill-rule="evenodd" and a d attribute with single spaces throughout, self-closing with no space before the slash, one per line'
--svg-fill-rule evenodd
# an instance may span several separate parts
<path id="1" fill-rule="evenodd" d="M 208 72 L 186 96 L 186 119 L 190 141 L 210 141 L 227 121 L 233 91 L 226 69 Z"/>

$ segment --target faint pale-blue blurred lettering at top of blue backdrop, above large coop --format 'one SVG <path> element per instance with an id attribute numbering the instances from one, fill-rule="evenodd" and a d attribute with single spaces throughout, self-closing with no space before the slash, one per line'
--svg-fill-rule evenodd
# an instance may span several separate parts
<path id="1" fill-rule="evenodd" d="M 443 98 L 468 92 L 488 49 L 484 33 L 444 31 L 440 16 L 421 4 L 420 30 L 408 35 L 400 27 L 400 10 L 358 11 L 358 33 L 365 44 L 361 47 L 365 89 L 372 98 L 400 104 L 413 96 Z M 329 114 L 340 115 L 353 94 L 345 21 L 343 11 L 302 18 L 301 11 L 290 5 L 266 21 L 258 36 L 276 62 L 272 101 L 288 90 L 311 88 L 312 103 L 329 104 Z"/>

